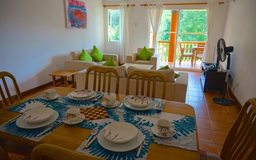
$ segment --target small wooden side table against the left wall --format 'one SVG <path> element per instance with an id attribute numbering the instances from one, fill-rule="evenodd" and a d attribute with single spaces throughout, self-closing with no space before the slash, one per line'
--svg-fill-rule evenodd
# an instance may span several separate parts
<path id="1" fill-rule="evenodd" d="M 74 77 L 75 73 L 77 73 L 77 71 L 59 70 L 49 74 L 49 76 L 52 76 L 52 81 L 54 86 L 57 86 L 55 77 L 58 76 L 58 77 L 61 77 L 61 84 L 64 84 L 66 87 L 68 87 L 67 77 L 72 76 L 73 88 L 75 88 L 76 87 L 75 77 Z"/>

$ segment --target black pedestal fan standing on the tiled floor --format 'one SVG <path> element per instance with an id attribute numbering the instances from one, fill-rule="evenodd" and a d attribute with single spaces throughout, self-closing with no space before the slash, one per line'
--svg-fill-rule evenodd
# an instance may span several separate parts
<path id="1" fill-rule="evenodd" d="M 230 70 L 230 52 L 233 52 L 234 48 L 232 46 L 226 47 L 226 43 L 224 39 L 219 39 L 217 44 L 217 53 L 218 53 L 218 60 L 224 62 L 227 58 L 227 74 L 226 74 L 226 80 L 224 85 L 224 92 L 222 98 L 214 98 L 215 103 L 221 104 L 221 105 L 233 105 L 233 102 L 225 99 L 226 94 L 226 88 L 227 88 L 227 81 L 228 81 L 228 72 Z"/>

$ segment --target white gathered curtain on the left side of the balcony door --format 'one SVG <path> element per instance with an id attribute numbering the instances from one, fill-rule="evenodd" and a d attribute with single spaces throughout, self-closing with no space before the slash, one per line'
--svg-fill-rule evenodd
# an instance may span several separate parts
<path id="1" fill-rule="evenodd" d="M 155 39 L 153 42 L 153 48 L 157 51 L 157 37 L 158 37 L 158 29 L 160 26 L 160 21 L 163 13 L 163 5 L 153 5 L 148 6 L 148 14 L 150 15 L 150 22 L 153 28 L 153 32 L 155 34 Z"/>

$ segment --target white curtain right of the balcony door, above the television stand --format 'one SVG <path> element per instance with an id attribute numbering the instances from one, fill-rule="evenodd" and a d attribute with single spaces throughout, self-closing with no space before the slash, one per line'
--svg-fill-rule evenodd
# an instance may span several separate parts
<path id="1" fill-rule="evenodd" d="M 204 54 L 202 61 L 211 61 L 209 58 L 209 54 L 213 54 L 214 51 L 214 41 L 212 41 L 212 36 L 213 36 L 213 31 L 214 31 L 214 26 L 215 20 L 216 20 L 216 15 L 218 12 L 219 8 L 219 3 L 218 2 L 213 2 L 213 3 L 208 3 L 207 4 L 207 42 L 205 44 L 205 49 L 204 49 Z M 208 55 L 207 55 L 208 54 Z"/>

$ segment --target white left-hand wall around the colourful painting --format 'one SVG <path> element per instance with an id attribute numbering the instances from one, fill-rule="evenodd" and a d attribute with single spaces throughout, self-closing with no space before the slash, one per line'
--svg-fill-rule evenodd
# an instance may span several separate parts
<path id="1" fill-rule="evenodd" d="M 12 73 L 22 92 L 50 82 L 70 51 L 104 49 L 102 1 L 84 2 L 87 29 L 67 29 L 63 0 L 0 0 L 0 71 Z"/>

